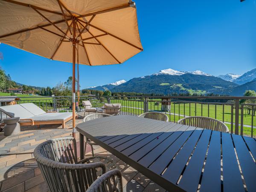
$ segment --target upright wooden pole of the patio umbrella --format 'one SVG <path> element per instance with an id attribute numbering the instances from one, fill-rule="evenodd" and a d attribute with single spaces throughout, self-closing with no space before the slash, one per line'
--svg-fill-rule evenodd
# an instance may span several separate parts
<path id="1" fill-rule="evenodd" d="M 73 21 L 73 81 L 72 81 L 72 104 L 73 104 L 73 131 L 72 137 L 76 138 L 76 20 Z"/>

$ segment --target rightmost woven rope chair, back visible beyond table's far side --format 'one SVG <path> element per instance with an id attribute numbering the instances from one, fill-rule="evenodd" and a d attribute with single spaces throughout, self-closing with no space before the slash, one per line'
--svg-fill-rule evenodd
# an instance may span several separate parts
<path id="1" fill-rule="evenodd" d="M 223 122 L 217 119 L 213 119 L 205 116 L 189 116 L 189 117 L 180 119 L 177 123 L 182 125 L 189 125 L 189 126 L 194 126 L 194 127 L 204 128 L 204 129 L 210 129 L 214 131 L 221 131 L 225 133 L 229 132 L 227 125 L 225 125 Z"/>

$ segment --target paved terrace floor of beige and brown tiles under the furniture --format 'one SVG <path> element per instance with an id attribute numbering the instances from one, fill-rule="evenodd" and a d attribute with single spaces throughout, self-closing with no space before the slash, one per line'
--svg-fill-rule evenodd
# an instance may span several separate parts
<path id="1" fill-rule="evenodd" d="M 82 122 L 83 113 L 76 123 Z M 33 156 L 35 147 L 48 139 L 67 137 L 72 133 L 72 120 L 61 125 L 23 126 L 20 134 L 4 136 L 0 133 L 0 192 L 47 192 L 49 191 Z M 79 133 L 76 134 L 79 138 Z M 79 145 L 78 145 L 79 146 Z M 94 146 L 95 155 L 116 160 L 116 168 L 122 173 L 124 192 L 165 192 L 163 188 L 142 175 L 131 166 L 118 160 L 105 149 Z M 89 148 L 88 148 L 89 149 Z M 86 156 L 91 156 L 87 151 Z"/>

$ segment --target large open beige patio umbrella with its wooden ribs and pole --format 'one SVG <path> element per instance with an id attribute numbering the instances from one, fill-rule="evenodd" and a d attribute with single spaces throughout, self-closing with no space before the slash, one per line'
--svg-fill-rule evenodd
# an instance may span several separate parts
<path id="1" fill-rule="evenodd" d="M 0 42 L 73 64 L 73 137 L 76 63 L 121 64 L 143 50 L 131 0 L 0 0 Z"/>

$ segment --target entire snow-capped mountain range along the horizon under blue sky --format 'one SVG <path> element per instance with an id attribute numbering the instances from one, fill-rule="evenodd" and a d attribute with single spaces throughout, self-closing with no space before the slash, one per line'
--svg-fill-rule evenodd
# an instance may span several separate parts
<path id="1" fill-rule="evenodd" d="M 228 73 L 215 77 L 200 70 L 178 71 L 173 69 L 160 70 L 148 76 L 121 80 L 97 87 L 93 90 L 111 90 L 111 92 L 137 92 L 170 95 L 173 93 L 207 94 L 241 96 L 245 90 L 256 90 L 256 69 L 243 75 Z"/>

